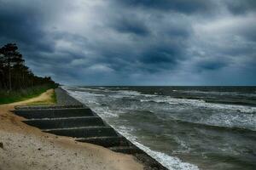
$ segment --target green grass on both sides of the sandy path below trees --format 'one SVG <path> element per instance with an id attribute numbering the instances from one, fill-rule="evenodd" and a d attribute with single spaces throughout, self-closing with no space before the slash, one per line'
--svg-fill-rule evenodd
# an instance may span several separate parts
<path id="1" fill-rule="evenodd" d="M 43 94 L 45 91 L 47 91 L 50 88 L 55 88 L 55 87 L 50 86 L 50 85 L 42 85 L 42 86 L 37 86 L 37 87 L 33 87 L 33 88 L 15 90 L 15 91 L 11 91 L 11 92 L 0 90 L 0 105 L 14 103 L 17 101 L 22 101 L 22 100 L 37 97 L 38 95 Z M 49 99 L 49 101 L 45 101 L 43 103 L 44 104 L 56 103 L 55 93 L 51 94 L 51 98 Z M 32 105 L 40 105 L 43 103 L 42 102 L 41 103 L 34 102 L 34 103 L 32 103 Z"/>

